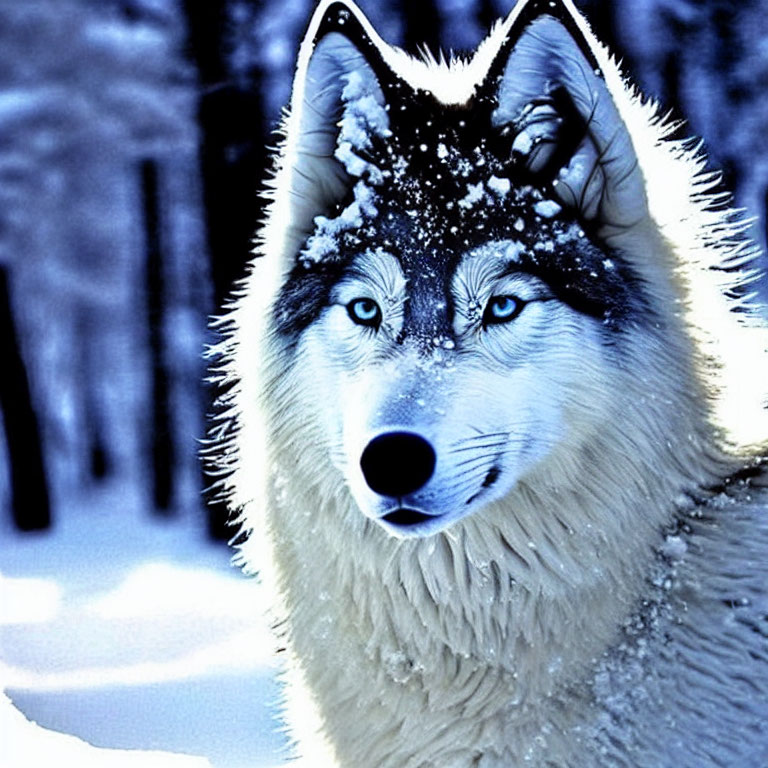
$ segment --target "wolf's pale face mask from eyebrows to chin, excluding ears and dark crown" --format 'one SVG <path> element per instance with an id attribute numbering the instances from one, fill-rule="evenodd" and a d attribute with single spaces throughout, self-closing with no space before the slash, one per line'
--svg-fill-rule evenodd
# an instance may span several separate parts
<path id="1" fill-rule="evenodd" d="M 599 369 L 601 333 L 520 270 L 520 247 L 489 241 L 421 279 L 394 246 L 364 251 L 304 334 L 334 463 L 395 535 L 505 495 L 577 429 L 569 397 Z"/>

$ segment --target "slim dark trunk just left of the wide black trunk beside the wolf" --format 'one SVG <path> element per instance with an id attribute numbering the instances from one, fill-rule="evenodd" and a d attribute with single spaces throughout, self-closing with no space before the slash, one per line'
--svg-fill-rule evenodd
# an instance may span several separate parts
<path id="1" fill-rule="evenodd" d="M 155 510 L 171 510 L 174 493 L 174 444 L 171 427 L 169 371 L 165 344 L 165 275 L 163 270 L 162 223 L 158 190 L 157 163 L 141 164 L 141 192 L 144 208 L 146 247 L 147 310 L 149 313 L 149 353 L 152 375 L 152 424 L 150 457 L 152 497 Z"/>

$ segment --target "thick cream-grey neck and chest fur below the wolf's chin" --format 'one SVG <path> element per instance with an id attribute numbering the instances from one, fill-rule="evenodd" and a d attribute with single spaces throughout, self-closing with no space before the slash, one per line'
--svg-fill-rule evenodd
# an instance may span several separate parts
<path id="1" fill-rule="evenodd" d="M 302 397 L 278 378 L 278 401 Z M 305 754 L 317 755 L 314 727 L 340 765 L 501 766 L 525 758 L 536 723 L 561 736 L 579 727 L 594 660 L 642 609 L 676 514 L 670 500 L 724 473 L 696 394 L 674 404 L 638 395 L 506 498 L 404 541 L 339 492 L 319 435 L 297 455 L 291 414 L 306 410 L 281 408 L 269 427 L 283 436 L 265 512 L 272 541 L 252 537 L 246 557 L 280 596 L 275 618 L 290 617 L 287 644 L 301 660 L 293 676 L 317 706 L 314 726 L 305 712 L 297 723 Z"/>

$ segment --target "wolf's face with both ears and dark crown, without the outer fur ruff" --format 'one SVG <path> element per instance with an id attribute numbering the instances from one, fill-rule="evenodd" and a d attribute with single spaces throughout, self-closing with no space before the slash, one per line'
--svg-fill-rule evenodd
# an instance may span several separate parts
<path id="1" fill-rule="evenodd" d="M 272 321 L 362 514 L 424 536 L 600 431 L 617 340 L 653 322 L 623 258 L 648 215 L 601 74 L 559 20 L 521 22 L 450 104 L 373 35 L 336 3 L 305 44 Z"/>

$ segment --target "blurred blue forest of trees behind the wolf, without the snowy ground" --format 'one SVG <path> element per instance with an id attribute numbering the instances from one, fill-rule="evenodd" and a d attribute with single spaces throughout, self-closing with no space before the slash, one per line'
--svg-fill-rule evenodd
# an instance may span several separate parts
<path id="1" fill-rule="evenodd" d="M 410 52 L 512 0 L 359 0 Z M 768 0 L 583 0 L 765 245 Z M 209 317 L 243 274 L 314 0 L 0 0 L 0 529 L 205 521 Z M 7 535 L 7 534 L 6 534 Z"/>

